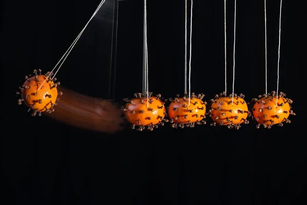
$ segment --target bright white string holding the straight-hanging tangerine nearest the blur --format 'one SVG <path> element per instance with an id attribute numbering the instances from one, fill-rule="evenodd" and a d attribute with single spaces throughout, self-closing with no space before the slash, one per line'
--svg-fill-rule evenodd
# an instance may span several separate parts
<path id="1" fill-rule="evenodd" d="M 149 107 L 149 89 L 148 89 L 148 48 L 147 48 L 147 5 L 144 0 L 144 52 L 145 52 L 145 85 L 147 96 L 147 108 Z"/>

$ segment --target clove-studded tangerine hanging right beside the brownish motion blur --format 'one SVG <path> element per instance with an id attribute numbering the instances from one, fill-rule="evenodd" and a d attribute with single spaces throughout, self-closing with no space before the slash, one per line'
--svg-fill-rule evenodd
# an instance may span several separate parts
<path id="1" fill-rule="evenodd" d="M 148 100 L 142 93 L 135 93 L 134 96 L 134 99 L 125 98 L 126 105 L 122 108 L 126 119 L 132 124 L 132 129 L 137 126 L 139 131 L 143 131 L 145 127 L 152 131 L 168 122 L 164 119 L 166 112 L 160 94 L 152 96 L 152 93 L 149 93 Z"/>

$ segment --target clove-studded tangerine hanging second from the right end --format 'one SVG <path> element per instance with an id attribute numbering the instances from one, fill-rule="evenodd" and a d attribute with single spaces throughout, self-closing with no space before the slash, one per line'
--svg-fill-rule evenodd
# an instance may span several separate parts
<path id="1" fill-rule="evenodd" d="M 229 129 L 239 129 L 241 124 L 249 124 L 247 117 L 251 116 L 244 95 L 220 93 L 210 100 L 209 116 L 213 120 L 211 126 L 227 126 Z"/>

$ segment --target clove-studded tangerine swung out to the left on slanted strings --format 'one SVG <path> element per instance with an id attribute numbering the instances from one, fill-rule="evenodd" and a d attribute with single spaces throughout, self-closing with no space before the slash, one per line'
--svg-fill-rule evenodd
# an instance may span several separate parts
<path id="1" fill-rule="evenodd" d="M 20 92 L 16 92 L 17 95 L 21 95 L 18 105 L 24 103 L 28 107 L 28 112 L 33 111 L 32 116 L 41 116 L 42 112 L 54 112 L 54 106 L 59 100 L 58 95 L 62 95 L 62 92 L 58 93 L 57 86 L 60 82 L 55 83 L 56 78 L 51 79 L 52 75 L 50 72 L 42 75 L 40 69 L 34 70 L 33 75 L 25 76 L 26 81 L 20 87 Z"/>

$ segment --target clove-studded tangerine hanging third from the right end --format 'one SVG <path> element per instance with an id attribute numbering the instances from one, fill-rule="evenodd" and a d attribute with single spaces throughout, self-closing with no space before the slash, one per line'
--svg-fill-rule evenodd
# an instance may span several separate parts
<path id="1" fill-rule="evenodd" d="M 173 128 L 195 127 L 205 125 L 206 121 L 206 101 L 203 101 L 204 94 L 191 94 L 190 100 L 187 93 L 183 97 L 177 95 L 168 106 L 168 117 Z"/>

